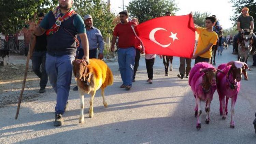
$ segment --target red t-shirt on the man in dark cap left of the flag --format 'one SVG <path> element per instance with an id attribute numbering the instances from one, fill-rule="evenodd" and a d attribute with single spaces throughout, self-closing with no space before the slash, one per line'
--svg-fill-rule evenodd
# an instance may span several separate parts
<path id="1" fill-rule="evenodd" d="M 118 47 L 119 48 L 128 48 L 135 47 L 136 36 L 131 29 L 131 22 L 127 24 L 117 24 L 113 35 L 118 36 Z"/>

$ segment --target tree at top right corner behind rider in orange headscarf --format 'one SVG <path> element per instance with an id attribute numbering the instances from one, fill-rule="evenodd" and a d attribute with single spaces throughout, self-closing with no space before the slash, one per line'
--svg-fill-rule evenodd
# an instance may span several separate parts
<path id="1" fill-rule="evenodd" d="M 230 0 L 233 3 L 234 16 L 230 17 L 234 26 L 237 24 L 237 18 L 241 15 L 241 10 L 244 7 L 249 8 L 249 14 L 254 18 L 254 31 L 256 31 L 256 1 L 255 0 Z"/>

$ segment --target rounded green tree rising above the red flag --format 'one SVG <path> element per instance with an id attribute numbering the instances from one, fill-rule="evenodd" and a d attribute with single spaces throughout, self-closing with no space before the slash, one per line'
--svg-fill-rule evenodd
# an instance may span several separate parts
<path id="1" fill-rule="evenodd" d="M 174 0 L 132 0 L 127 6 L 132 17 L 137 17 L 142 23 L 146 20 L 164 16 L 167 11 L 175 14 L 177 4 Z"/>

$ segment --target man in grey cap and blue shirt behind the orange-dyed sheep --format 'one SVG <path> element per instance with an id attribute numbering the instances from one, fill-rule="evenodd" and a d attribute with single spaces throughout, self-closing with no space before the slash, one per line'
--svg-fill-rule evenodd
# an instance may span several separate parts
<path id="1" fill-rule="evenodd" d="M 84 24 L 86 27 L 86 34 L 89 41 L 89 58 L 103 59 L 104 40 L 102 38 L 100 30 L 93 26 L 93 17 L 88 14 L 85 15 Z M 82 59 L 82 57 L 84 56 L 84 50 L 81 45 L 79 48 L 77 48 L 77 56 L 78 59 Z M 75 86 L 73 90 L 78 90 L 78 87 Z"/>

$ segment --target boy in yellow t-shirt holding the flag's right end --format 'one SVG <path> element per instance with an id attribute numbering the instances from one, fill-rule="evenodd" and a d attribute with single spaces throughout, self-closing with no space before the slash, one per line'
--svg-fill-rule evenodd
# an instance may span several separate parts
<path id="1" fill-rule="evenodd" d="M 218 39 L 217 33 L 212 29 L 216 21 L 216 17 L 210 16 L 205 18 L 206 28 L 195 25 L 195 30 L 199 34 L 196 52 L 191 58 L 195 59 L 195 64 L 198 62 L 209 62 L 212 57 L 212 46 L 216 45 Z"/>

